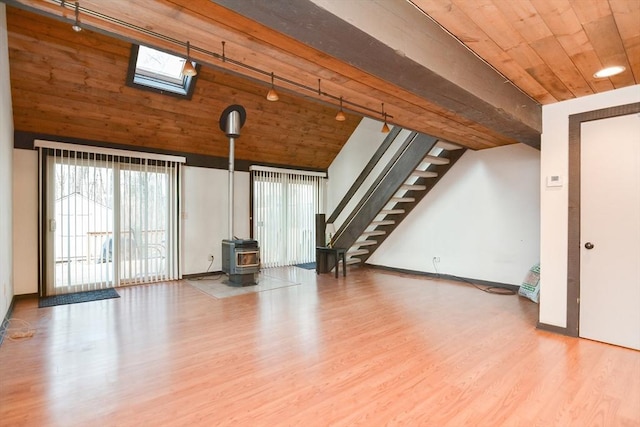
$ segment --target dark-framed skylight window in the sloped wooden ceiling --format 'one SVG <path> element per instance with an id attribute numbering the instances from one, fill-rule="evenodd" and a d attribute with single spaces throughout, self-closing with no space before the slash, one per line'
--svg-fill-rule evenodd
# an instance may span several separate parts
<path id="1" fill-rule="evenodd" d="M 133 45 L 127 85 L 139 89 L 191 98 L 197 76 L 182 74 L 186 59 L 146 46 Z M 192 62 L 199 70 L 199 65 Z"/>

